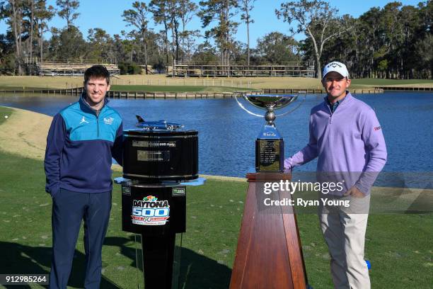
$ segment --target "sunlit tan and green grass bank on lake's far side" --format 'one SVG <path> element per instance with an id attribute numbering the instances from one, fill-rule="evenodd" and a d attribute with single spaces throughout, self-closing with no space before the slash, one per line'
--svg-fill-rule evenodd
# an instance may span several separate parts
<path id="1" fill-rule="evenodd" d="M 254 89 L 321 89 L 319 79 L 304 77 L 231 77 L 178 79 L 164 75 L 122 75 L 112 79 L 113 90 L 172 91 L 172 92 L 221 92 L 245 89 L 248 83 Z M 142 85 L 140 85 L 142 84 Z M 151 85 L 144 85 L 151 84 Z M 158 84 L 158 85 L 155 85 Z M 159 85 L 162 84 L 162 85 Z M 199 85 L 197 85 L 199 84 Z M 0 76 L 2 89 L 65 89 L 83 85 L 82 77 L 8 77 Z M 352 79 L 352 89 L 372 89 L 374 86 L 433 87 L 431 79 Z"/>

